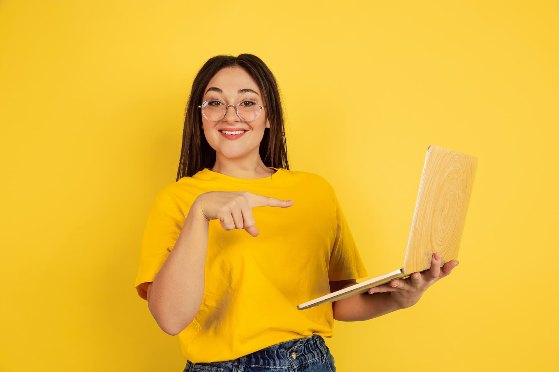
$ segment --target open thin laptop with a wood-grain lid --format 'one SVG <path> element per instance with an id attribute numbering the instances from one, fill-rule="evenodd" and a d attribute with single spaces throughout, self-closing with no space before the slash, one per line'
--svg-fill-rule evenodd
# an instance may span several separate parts
<path id="1" fill-rule="evenodd" d="M 476 167 L 475 156 L 429 146 L 403 267 L 311 299 L 297 305 L 297 309 L 305 310 L 325 302 L 366 293 L 369 288 L 428 270 L 435 252 L 440 254 L 441 266 L 457 259 Z"/>

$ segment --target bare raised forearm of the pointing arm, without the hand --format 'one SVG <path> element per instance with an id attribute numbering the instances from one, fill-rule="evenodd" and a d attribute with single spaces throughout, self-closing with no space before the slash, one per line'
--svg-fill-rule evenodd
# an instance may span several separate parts
<path id="1" fill-rule="evenodd" d="M 181 233 L 153 280 L 148 307 L 159 327 L 177 335 L 196 317 L 205 286 L 209 221 L 196 201 Z"/>

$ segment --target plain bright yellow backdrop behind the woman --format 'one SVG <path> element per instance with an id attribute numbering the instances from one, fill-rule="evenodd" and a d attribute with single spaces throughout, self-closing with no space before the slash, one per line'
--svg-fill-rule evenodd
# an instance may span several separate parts
<path id="1" fill-rule="evenodd" d="M 368 278 L 401 267 L 427 147 L 479 160 L 458 267 L 336 322 L 338 371 L 558 370 L 558 25 L 557 1 L 0 2 L 0 370 L 182 370 L 134 289 L 141 234 L 197 70 L 243 52 Z"/>

